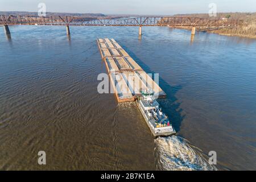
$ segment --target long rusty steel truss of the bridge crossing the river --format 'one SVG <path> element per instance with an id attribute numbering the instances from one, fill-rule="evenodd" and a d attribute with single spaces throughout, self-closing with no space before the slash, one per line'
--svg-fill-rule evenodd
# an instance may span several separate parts
<path id="1" fill-rule="evenodd" d="M 0 24 L 38 24 L 69 26 L 237 26 L 239 20 L 210 20 L 196 17 L 137 17 L 123 19 L 88 19 L 79 16 L 0 15 Z"/>

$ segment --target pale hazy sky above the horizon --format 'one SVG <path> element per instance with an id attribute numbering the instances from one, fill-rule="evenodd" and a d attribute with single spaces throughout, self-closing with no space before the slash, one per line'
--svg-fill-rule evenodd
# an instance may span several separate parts
<path id="1" fill-rule="evenodd" d="M 217 12 L 255 12 L 256 0 L 0 0 L 0 11 L 35 11 L 46 3 L 49 12 L 173 15 Z"/>

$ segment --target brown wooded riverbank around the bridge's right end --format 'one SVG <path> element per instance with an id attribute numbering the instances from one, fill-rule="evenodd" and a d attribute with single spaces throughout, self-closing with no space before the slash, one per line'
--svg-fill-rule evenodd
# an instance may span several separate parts
<path id="1" fill-rule="evenodd" d="M 218 13 L 217 16 L 209 17 L 209 14 L 177 14 L 175 16 L 192 16 L 208 19 L 239 19 L 241 25 L 236 27 L 197 27 L 196 31 L 209 32 L 226 36 L 239 36 L 243 38 L 256 39 L 256 13 Z M 174 26 L 170 26 L 174 27 Z M 180 27 L 185 30 L 191 30 L 192 27 Z"/>

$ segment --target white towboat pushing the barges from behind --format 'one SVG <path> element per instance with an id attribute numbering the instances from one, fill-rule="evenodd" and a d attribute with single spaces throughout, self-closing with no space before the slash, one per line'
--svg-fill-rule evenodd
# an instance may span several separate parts
<path id="1" fill-rule="evenodd" d="M 152 90 L 144 90 L 136 97 L 136 103 L 154 137 L 164 137 L 176 133 L 170 119 L 163 113 Z"/>

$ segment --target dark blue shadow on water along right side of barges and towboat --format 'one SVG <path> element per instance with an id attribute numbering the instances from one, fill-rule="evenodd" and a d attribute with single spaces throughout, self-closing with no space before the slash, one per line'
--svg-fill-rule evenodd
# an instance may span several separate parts
<path id="1" fill-rule="evenodd" d="M 152 73 L 152 79 L 154 80 L 154 71 L 152 71 L 146 64 L 144 64 L 133 52 L 130 51 L 126 46 L 122 46 L 126 52 L 144 69 L 146 73 Z M 181 115 L 183 111 L 180 109 L 180 102 L 178 102 L 175 94 L 177 91 L 182 89 L 182 85 L 171 86 L 166 81 L 163 80 L 159 75 L 159 86 L 166 92 L 166 99 L 159 99 L 158 102 L 163 108 L 164 113 L 168 115 L 172 122 L 172 126 L 176 132 L 180 131 L 181 122 L 183 121 L 185 115 Z"/>

